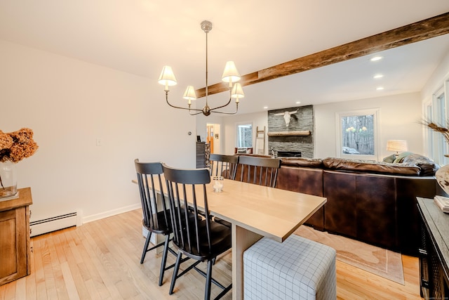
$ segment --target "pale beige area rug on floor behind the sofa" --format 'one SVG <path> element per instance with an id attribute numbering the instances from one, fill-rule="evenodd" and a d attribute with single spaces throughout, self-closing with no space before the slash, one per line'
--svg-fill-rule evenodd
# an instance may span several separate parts
<path id="1" fill-rule="evenodd" d="M 358 242 L 341 235 L 300 226 L 295 234 L 326 244 L 337 250 L 337 260 L 404 285 L 401 254 Z"/>

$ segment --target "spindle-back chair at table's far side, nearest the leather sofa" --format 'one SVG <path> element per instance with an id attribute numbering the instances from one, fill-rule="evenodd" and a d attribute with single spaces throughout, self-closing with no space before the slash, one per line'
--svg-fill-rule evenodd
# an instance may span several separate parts
<path id="1" fill-rule="evenodd" d="M 281 159 L 241 155 L 236 180 L 274 188 Z"/>

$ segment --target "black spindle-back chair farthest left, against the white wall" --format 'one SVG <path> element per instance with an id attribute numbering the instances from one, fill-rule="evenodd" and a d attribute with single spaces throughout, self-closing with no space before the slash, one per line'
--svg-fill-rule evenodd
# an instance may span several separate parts
<path id="1" fill-rule="evenodd" d="M 139 159 L 135 159 L 134 164 L 138 176 L 140 200 L 142 202 L 142 225 L 148 230 L 147 240 L 145 240 L 140 263 L 143 263 L 145 260 L 147 252 L 163 246 L 161 270 L 159 272 L 159 285 L 162 285 L 163 273 L 175 266 L 174 263 L 173 265 L 166 266 L 167 254 L 170 252 L 175 256 L 177 255 L 176 252 L 168 246 L 172 229 L 168 201 L 163 193 L 165 182 L 161 179 L 161 175 L 163 174 L 162 164 L 161 162 L 139 162 Z M 154 188 L 155 184 L 161 189 L 160 193 L 156 193 Z M 160 197 L 159 201 L 157 199 L 158 197 Z M 153 233 L 165 235 L 165 242 L 149 247 L 149 241 Z"/>

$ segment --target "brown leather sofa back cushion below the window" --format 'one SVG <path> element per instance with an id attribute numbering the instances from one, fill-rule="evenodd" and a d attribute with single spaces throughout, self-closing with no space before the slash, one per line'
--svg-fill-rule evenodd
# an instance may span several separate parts
<path id="1" fill-rule="evenodd" d="M 358 159 L 328 157 L 323 159 L 323 166 L 331 170 L 370 172 L 376 174 L 396 174 L 419 176 L 420 167 L 416 165 L 390 164 L 387 162 L 368 162 Z"/>

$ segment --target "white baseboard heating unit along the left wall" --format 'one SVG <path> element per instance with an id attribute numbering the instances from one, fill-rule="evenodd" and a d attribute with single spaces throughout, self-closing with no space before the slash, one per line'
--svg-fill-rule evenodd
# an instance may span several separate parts
<path id="1" fill-rule="evenodd" d="M 39 220 L 39 221 L 30 221 L 29 228 L 31 231 L 30 236 L 34 237 L 36 235 L 42 235 L 43 233 L 51 233 L 55 230 L 60 230 L 64 228 L 69 228 L 72 226 L 76 226 L 79 224 L 81 216 L 78 211 L 62 214 L 60 216 L 53 216 L 51 218 Z"/>

